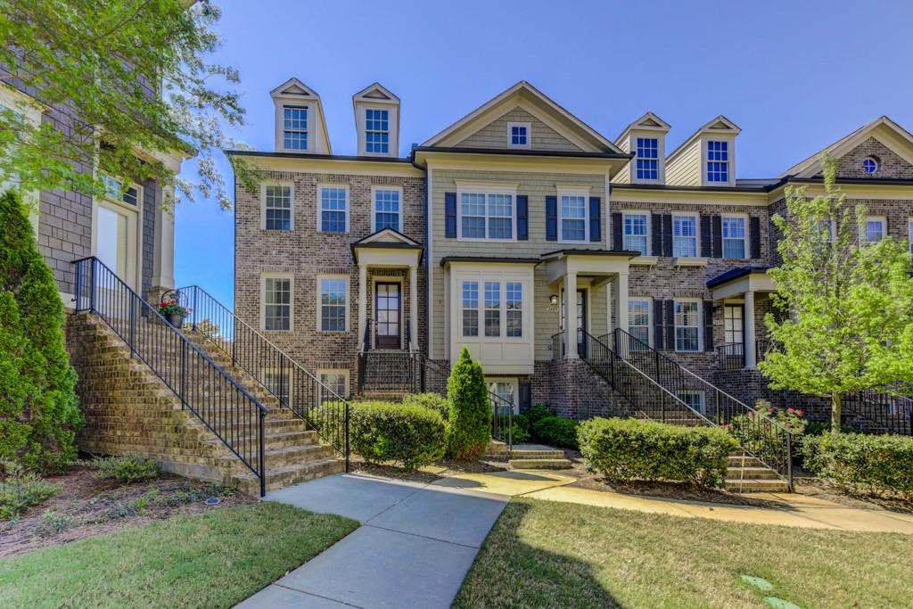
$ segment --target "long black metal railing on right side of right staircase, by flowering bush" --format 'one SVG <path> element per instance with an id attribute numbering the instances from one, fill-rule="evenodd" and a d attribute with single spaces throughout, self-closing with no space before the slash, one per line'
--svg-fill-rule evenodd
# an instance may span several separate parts
<path id="1" fill-rule="evenodd" d="M 794 438 L 789 429 L 769 416 L 761 415 L 750 405 L 708 383 L 621 328 L 616 328 L 613 333 L 602 338 L 611 344 L 611 350 L 621 359 L 631 363 L 670 394 L 697 404 L 698 409 L 703 411 L 702 414 L 713 425 L 731 427 L 732 435 L 740 441 L 741 447 L 784 476 L 792 489 Z"/>

